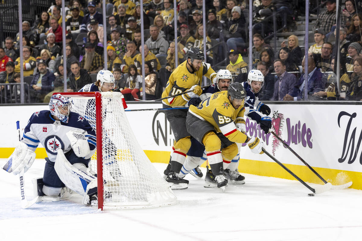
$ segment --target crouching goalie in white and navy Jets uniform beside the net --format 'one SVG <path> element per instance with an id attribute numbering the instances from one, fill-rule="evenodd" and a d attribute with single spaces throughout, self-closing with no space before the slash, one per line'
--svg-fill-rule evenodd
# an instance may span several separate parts
<path id="1" fill-rule="evenodd" d="M 88 204 L 96 200 L 97 194 L 97 177 L 88 171 L 90 157 L 96 151 L 96 133 L 84 117 L 71 112 L 68 98 L 53 95 L 49 109 L 31 115 L 13 152 L 12 172 L 14 175 L 23 169 L 26 172 L 41 143 L 48 156 L 43 178 L 37 180 L 42 200 L 59 201 L 66 190 L 71 189 L 82 195 L 83 203 Z"/>

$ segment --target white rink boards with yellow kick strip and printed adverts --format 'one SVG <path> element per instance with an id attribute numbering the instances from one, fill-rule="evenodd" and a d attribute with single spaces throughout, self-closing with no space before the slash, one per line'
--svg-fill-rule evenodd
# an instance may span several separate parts
<path id="1" fill-rule="evenodd" d="M 128 104 L 128 109 L 160 108 L 159 103 Z M 362 105 L 359 104 L 269 104 L 273 115 L 273 127 L 280 137 L 312 167 L 315 167 L 332 184 L 353 181 L 352 188 L 362 189 Z M 47 105 L 1 106 L 6 118 L 1 122 L 0 158 L 7 158 L 17 142 L 16 120 L 24 130 L 35 111 L 47 109 Z M 151 162 L 167 163 L 173 144 L 173 134 L 164 113 L 160 111 L 126 112 L 138 142 Z M 247 134 L 257 136 L 266 150 L 286 164 L 303 180 L 321 183 L 294 154 L 283 147 L 271 134 L 260 130 L 259 125 L 247 120 Z M 4 138 L 5 137 L 5 138 Z M 37 158 L 46 156 L 39 145 Z M 266 155 L 253 154 L 248 147 L 241 148 L 239 171 L 262 176 L 294 179 Z M 204 164 L 205 165 L 205 164 Z"/>

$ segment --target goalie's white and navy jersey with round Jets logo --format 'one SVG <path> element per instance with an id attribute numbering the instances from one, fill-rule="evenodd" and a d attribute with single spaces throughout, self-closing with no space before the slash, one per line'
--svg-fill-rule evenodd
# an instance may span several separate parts
<path id="1" fill-rule="evenodd" d="M 72 149 L 66 135 L 70 130 L 80 130 L 88 141 L 90 151 L 94 151 L 96 132 L 84 117 L 75 112 L 70 112 L 68 123 L 54 120 L 50 111 L 35 112 L 25 127 L 21 141 L 32 151 L 35 151 L 41 143 L 45 147 L 49 160 L 55 162 L 59 148 L 64 153 Z"/>

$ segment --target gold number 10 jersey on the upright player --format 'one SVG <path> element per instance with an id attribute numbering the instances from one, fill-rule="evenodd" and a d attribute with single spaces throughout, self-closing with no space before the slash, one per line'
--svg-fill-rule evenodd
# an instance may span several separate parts
<path id="1" fill-rule="evenodd" d="M 194 85 L 201 86 L 202 76 L 206 76 L 211 81 L 216 76 L 216 73 L 211 68 L 210 64 L 203 63 L 198 71 L 190 73 L 186 67 L 186 62 L 187 60 L 173 70 L 170 78 L 168 79 L 166 89 L 162 93 L 162 98 L 185 92 Z M 191 98 L 188 94 L 183 94 L 164 99 L 162 102 L 171 107 L 184 107 L 190 99 Z"/>

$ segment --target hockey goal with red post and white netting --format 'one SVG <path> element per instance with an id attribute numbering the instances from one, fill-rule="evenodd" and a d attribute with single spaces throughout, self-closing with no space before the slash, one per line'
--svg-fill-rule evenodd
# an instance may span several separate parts
<path id="1" fill-rule="evenodd" d="M 90 168 L 98 178 L 98 208 L 144 208 L 176 203 L 168 183 L 147 158 L 132 132 L 119 92 L 61 93 L 72 111 L 97 133 Z"/>

